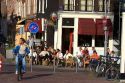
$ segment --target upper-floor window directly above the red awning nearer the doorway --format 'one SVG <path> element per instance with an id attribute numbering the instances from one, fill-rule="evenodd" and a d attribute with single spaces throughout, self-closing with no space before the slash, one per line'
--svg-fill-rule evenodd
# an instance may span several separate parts
<path id="1" fill-rule="evenodd" d="M 92 11 L 93 10 L 93 0 L 81 0 L 81 10 L 82 11 Z"/>

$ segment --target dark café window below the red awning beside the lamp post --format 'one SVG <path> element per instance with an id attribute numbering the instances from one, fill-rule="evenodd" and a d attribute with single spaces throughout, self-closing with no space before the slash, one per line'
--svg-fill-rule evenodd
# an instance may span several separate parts
<path id="1" fill-rule="evenodd" d="M 104 36 L 95 36 L 95 47 L 104 47 Z"/>

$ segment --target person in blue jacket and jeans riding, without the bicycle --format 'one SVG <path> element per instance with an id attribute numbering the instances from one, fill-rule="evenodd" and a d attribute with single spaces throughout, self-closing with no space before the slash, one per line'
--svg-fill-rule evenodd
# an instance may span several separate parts
<path id="1" fill-rule="evenodd" d="M 24 38 L 20 38 L 19 45 L 17 45 L 13 49 L 14 55 L 16 55 L 15 61 L 16 61 L 16 74 L 18 74 L 18 58 L 21 57 L 22 59 L 22 71 L 23 73 L 26 72 L 26 61 L 25 56 L 30 53 L 30 50 L 28 48 L 28 45 L 26 44 L 26 41 Z"/>

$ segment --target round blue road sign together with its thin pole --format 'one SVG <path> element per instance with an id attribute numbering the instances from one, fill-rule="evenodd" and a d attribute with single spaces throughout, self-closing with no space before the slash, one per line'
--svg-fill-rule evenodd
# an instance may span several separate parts
<path id="1" fill-rule="evenodd" d="M 35 34 L 39 31 L 39 26 L 37 23 L 31 22 L 29 24 L 28 29 L 29 29 L 30 33 L 33 34 L 33 37 L 34 37 Z M 31 49 L 31 72 L 32 72 L 33 45 L 31 47 L 32 47 L 32 49 L 31 48 L 30 49 Z"/>

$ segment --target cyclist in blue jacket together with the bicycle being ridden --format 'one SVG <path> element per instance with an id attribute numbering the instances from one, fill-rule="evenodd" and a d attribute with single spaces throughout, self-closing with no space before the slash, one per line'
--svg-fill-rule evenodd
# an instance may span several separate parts
<path id="1" fill-rule="evenodd" d="M 13 54 L 16 56 L 16 74 L 17 79 L 21 80 L 23 74 L 26 72 L 26 61 L 25 56 L 30 53 L 30 50 L 28 48 L 28 45 L 26 44 L 26 41 L 24 38 L 20 38 L 19 45 L 17 45 L 13 49 Z"/>

